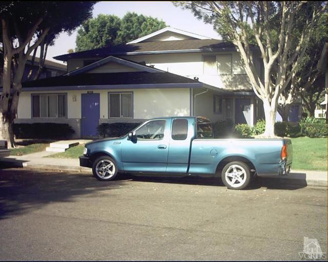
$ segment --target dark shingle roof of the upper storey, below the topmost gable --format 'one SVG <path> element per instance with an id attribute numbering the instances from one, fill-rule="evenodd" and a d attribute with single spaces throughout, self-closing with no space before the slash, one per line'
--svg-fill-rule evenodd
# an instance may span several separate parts
<path id="1" fill-rule="evenodd" d="M 130 43 L 128 45 L 117 45 L 106 48 L 92 49 L 77 53 L 55 56 L 57 60 L 67 61 L 71 58 L 81 57 L 106 57 L 109 55 L 126 55 L 129 53 L 147 53 L 147 52 L 200 52 L 213 50 L 235 50 L 235 45 L 232 42 L 223 42 L 217 39 L 187 39 L 187 40 L 172 40 L 172 41 L 152 41 Z"/>

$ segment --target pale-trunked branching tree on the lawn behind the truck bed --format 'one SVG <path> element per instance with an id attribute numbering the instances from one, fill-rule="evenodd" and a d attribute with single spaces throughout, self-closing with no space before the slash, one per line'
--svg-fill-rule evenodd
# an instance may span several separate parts
<path id="1" fill-rule="evenodd" d="M 263 101 L 264 136 L 274 137 L 279 96 L 299 70 L 314 25 L 326 12 L 326 3 L 187 1 L 174 5 L 191 10 L 212 24 L 223 39 L 235 44 L 253 91 Z M 256 57 L 262 60 L 263 78 L 255 67 Z"/>

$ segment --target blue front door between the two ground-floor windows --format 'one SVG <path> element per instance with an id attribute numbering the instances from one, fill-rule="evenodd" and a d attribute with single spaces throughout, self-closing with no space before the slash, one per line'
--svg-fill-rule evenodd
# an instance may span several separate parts
<path id="1" fill-rule="evenodd" d="M 82 94 L 81 133 L 83 137 L 97 136 L 99 117 L 99 94 Z"/>

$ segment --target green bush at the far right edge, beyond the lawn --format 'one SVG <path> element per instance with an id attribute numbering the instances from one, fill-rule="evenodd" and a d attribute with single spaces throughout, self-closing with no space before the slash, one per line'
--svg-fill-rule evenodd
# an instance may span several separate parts
<path id="1" fill-rule="evenodd" d="M 311 138 L 327 137 L 327 124 L 325 119 L 317 119 L 313 117 L 304 118 L 300 122 L 301 133 L 303 136 Z"/>

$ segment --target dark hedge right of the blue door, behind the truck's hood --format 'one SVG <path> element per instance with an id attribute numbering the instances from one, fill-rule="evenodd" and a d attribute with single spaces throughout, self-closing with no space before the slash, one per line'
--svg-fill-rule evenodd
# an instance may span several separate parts
<path id="1" fill-rule="evenodd" d="M 100 137 L 120 137 L 128 134 L 140 123 L 103 123 L 98 125 L 97 131 Z"/>

